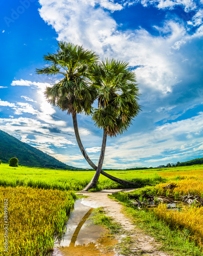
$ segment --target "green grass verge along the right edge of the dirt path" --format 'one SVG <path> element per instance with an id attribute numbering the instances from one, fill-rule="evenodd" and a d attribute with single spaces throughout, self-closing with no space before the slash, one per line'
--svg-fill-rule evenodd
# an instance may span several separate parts
<path id="1" fill-rule="evenodd" d="M 162 243 L 160 250 L 179 256 L 203 255 L 201 247 L 191 241 L 190 231 L 187 228 L 180 229 L 170 225 L 159 219 L 151 210 L 134 208 L 126 193 L 119 192 L 111 197 L 123 203 L 125 214 L 135 225 L 154 237 L 157 242 Z"/>

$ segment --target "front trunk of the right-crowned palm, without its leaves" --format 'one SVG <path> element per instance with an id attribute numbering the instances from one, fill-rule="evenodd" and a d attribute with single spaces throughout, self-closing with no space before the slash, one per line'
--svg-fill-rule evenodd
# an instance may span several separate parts
<path id="1" fill-rule="evenodd" d="M 104 130 L 101 153 L 100 153 L 96 173 L 95 173 L 94 177 L 92 178 L 91 182 L 89 182 L 89 184 L 82 191 L 88 191 L 89 189 L 94 188 L 97 185 L 97 182 L 99 180 L 99 176 L 100 176 L 100 173 L 101 173 L 101 170 L 102 170 L 103 161 L 104 161 L 105 148 L 106 148 L 106 138 L 107 138 L 107 134 L 106 134 L 106 130 Z"/>

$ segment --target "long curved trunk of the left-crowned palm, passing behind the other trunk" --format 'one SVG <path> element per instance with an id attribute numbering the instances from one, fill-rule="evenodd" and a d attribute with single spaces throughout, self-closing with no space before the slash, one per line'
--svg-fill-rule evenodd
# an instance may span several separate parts
<path id="1" fill-rule="evenodd" d="M 80 151 L 83 155 L 83 157 L 85 158 L 85 160 L 87 161 L 87 163 L 95 170 L 97 170 L 97 166 L 92 162 L 92 160 L 88 157 L 84 147 L 83 147 L 83 144 L 81 142 L 81 139 L 80 139 L 80 135 L 79 135 L 79 131 L 78 131 L 78 122 L 77 122 L 77 116 L 76 116 L 76 113 L 73 112 L 72 113 L 72 118 L 73 118 L 73 126 L 74 126 L 74 131 L 75 131 L 75 136 L 76 136 L 76 140 L 77 140 L 77 143 L 78 143 L 78 146 L 80 148 Z M 119 184 L 122 184 L 122 185 L 125 185 L 125 186 L 136 186 L 136 185 L 147 185 L 147 184 L 143 184 L 143 183 L 133 183 L 131 181 L 126 181 L 126 180 L 122 180 L 122 179 L 119 179 L 119 178 L 116 178 L 114 176 L 111 176 L 107 173 L 105 173 L 103 170 L 101 170 L 101 174 L 104 175 L 105 177 L 109 178 L 110 180 L 112 181 L 116 181 L 117 183 Z"/>

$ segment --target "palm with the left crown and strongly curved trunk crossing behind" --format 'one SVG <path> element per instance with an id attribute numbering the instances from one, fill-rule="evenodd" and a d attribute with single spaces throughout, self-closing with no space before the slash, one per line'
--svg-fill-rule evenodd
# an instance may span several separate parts
<path id="1" fill-rule="evenodd" d="M 48 87 L 44 94 L 48 101 L 62 111 L 67 111 L 73 118 L 74 131 L 80 151 L 89 165 L 95 170 L 97 166 L 89 159 L 80 139 L 77 114 L 84 112 L 92 113 L 92 103 L 98 97 L 97 90 L 100 88 L 100 66 L 94 65 L 98 56 L 93 51 L 84 50 L 83 47 L 71 43 L 59 42 L 59 49 L 55 54 L 44 55 L 43 59 L 51 62 L 51 66 L 36 69 L 37 74 L 62 75 L 62 79 Z M 91 70 L 91 72 L 89 72 Z M 92 75 L 90 74 L 92 73 Z M 94 81 L 91 77 L 94 76 Z M 101 174 L 122 185 L 136 185 L 136 183 L 118 179 L 101 170 Z"/>

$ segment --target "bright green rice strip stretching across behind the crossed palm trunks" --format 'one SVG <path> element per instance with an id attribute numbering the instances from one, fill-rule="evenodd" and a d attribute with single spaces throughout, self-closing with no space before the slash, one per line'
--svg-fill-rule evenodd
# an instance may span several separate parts
<path id="1" fill-rule="evenodd" d="M 194 176 L 198 172 L 203 177 L 203 165 L 181 166 L 164 169 L 145 170 L 112 170 L 108 174 L 120 179 L 137 183 L 158 184 L 177 176 Z M 0 165 L 0 186 L 25 186 L 33 188 L 59 189 L 79 191 L 93 178 L 95 171 L 70 171 L 57 169 L 43 169 L 32 167 L 11 167 Z M 97 190 L 109 188 L 123 188 L 122 185 L 100 175 Z"/>

